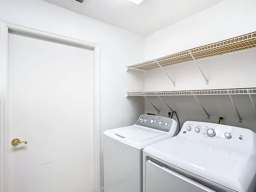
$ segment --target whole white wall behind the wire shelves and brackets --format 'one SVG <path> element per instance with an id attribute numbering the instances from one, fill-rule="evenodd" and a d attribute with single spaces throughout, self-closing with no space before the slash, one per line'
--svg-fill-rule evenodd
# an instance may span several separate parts
<path id="1" fill-rule="evenodd" d="M 256 31 L 255 0 L 224 0 L 207 10 L 199 12 L 172 26 L 160 30 L 145 38 L 145 60 L 159 58 L 198 46 L 218 42 Z M 158 68 L 145 73 L 145 91 L 164 90 L 208 90 L 218 88 L 256 87 L 256 48 L 231 54 L 223 54 L 198 60 L 209 85 L 193 62 L 185 62 L 165 67 L 176 82 L 172 82 Z M 256 102 L 256 96 L 252 96 Z M 160 114 L 167 116 L 166 106 L 156 97 L 149 97 Z M 226 124 L 250 128 L 256 131 L 256 112 L 249 96 L 234 96 L 243 123 L 238 123 L 238 116 L 228 96 L 198 96 L 211 116 L 200 108 L 193 96 L 164 97 L 164 100 L 177 111 L 180 123 L 186 120 L 217 122 L 218 114 L 226 114 Z M 154 110 L 145 101 L 145 111 Z"/>

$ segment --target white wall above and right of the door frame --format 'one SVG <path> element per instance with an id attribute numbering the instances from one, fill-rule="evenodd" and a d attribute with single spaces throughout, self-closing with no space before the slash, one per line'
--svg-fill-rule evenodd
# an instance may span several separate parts
<path id="1" fill-rule="evenodd" d="M 0 20 L 100 44 L 101 133 L 133 124 L 143 113 L 142 98 L 125 97 L 127 90 L 144 88 L 143 72 L 125 71 L 143 61 L 143 37 L 42 0 L 1 0 Z"/>

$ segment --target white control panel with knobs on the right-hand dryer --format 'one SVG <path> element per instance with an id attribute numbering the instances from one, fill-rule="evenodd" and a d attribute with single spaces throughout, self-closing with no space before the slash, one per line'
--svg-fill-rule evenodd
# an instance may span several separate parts
<path id="1" fill-rule="evenodd" d="M 220 145 L 222 148 L 237 148 L 248 150 L 243 146 L 251 146 L 256 140 L 256 134 L 249 129 L 229 125 L 186 121 L 184 122 L 179 137 L 188 142 L 201 143 L 212 148 L 213 145 Z"/>

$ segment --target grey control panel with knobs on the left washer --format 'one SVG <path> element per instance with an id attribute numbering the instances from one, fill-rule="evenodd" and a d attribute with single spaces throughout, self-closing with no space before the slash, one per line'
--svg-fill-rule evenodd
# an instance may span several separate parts
<path id="1" fill-rule="evenodd" d="M 174 120 L 154 115 L 141 115 L 136 125 L 169 132 Z"/>

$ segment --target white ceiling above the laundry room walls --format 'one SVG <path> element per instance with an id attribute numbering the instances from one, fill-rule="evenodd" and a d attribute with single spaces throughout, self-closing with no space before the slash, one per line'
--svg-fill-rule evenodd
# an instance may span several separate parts
<path id="1" fill-rule="evenodd" d="M 82 15 L 117 26 L 140 36 L 148 36 L 223 0 L 45 0 Z"/>

